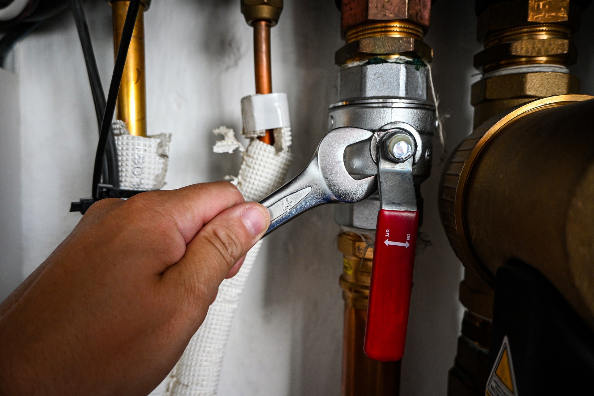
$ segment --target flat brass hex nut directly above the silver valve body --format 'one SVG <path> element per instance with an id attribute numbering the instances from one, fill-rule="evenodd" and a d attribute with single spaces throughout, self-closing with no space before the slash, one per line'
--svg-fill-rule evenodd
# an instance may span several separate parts
<path id="1" fill-rule="evenodd" d="M 407 55 L 431 62 L 433 50 L 422 40 L 411 37 L 367 37 L 348 43 L 334 55 L 337 65 L 347 61 L 361 61 L 374 56 L 389 57 L 393 55 Z"/>

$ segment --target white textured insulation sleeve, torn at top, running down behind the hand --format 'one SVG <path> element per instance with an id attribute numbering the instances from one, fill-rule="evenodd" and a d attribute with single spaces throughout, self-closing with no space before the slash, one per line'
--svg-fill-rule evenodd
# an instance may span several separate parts
<path id="1" fill-rule="evenodd" d="M 228 128 L 219 128 L 225 140 L 236 142 Z M 260 201 L 283 185 L 292 154 L 289 151 L 290 129 L 278 128 L 275 138 L 283 141 L 284 148 L 273 147 L 257 139 L 252 139 L 239 169 L 233 179 L 246 201 Z M 277 136 L 276 136 L 277 135 Z M 219 145 L 219 148 L 221 145 Z M 216 146 L 215 146 L 216 148 Z M 217 394 L 220 371 L 223 365 L 225 347 L 233 316 L 244 290 L 249 273 L 254 265 L 261 241 L 252 248 L 235 277 L 226 279 L 219 287 L 216 300 L 208 309 L 201 327 L 190 340 L 181 359 L 168 378 L 163 381 L 151 396 L 213 396 Z"/>

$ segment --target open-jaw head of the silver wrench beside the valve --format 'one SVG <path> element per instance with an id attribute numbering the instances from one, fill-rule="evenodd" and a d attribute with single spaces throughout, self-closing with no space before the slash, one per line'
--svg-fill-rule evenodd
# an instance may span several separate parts
<path id="1" fill-rule="evenodd" d="M 344 160 L 347 146 L 369 139 L 372 135 L 372 132 L 361 128 L 336 128 L 320 142 L 317 153 L 320 173 L 337 201 L 359 202 L 377 190 L 375 176 L 353 179 L 346 170 Z"/>

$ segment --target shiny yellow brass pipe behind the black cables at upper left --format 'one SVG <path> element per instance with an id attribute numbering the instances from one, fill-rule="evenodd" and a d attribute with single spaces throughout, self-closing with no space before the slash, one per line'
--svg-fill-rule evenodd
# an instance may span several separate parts
<path id="1" fill-rule="evenodd" d="M 122 29 L 128 12 L 129 1 L 112 2 L 113 9 L 113 47 L 117 55 Z M 132 41 L 128 50 L 128 58 L 124 66 L 122 83 L 118 93 L 117 118 L 124 121 L 131 135 L 147 135 L 146 119 L 146 77 L 144 59 L 144 11 L 141 5 L 134 26 Z"/>

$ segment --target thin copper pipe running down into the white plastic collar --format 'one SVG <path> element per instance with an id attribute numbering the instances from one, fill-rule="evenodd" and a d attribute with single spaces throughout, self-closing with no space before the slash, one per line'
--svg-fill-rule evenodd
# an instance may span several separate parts
<path id="1" fill-rule="evenodd" d="M 270 65 L 270 22 L 254 21 L 254 69 L 256 93 L 272 93 L 272 68 Z M 259 137 L 267 144 L 274 144 L 273 131 L 266 131 L 266 135 Z"/>

